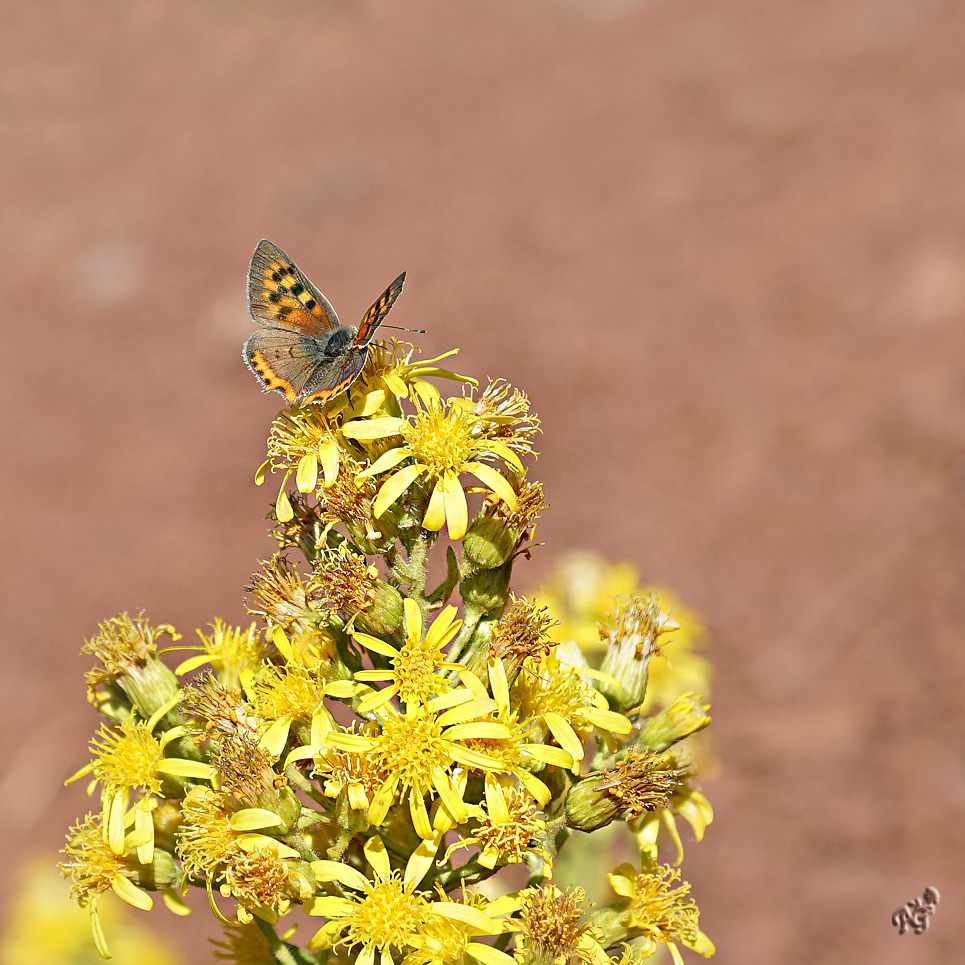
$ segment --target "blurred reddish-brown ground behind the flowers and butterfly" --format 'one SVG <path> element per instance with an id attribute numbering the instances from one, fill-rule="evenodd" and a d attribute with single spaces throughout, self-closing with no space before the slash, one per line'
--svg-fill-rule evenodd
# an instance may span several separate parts
<path id="1" fill-rule="evenodd" d="M 552 508 L 521 589 L 589 548 L 704 617 L 722 774 L 684 873 L 717 961 L 960 959 L 965 6 L 0 19 L 7 894 L 87 803 L 60 786 L 82 639 L 121 609 L 244 619 L 268 237 L 349 322 L 407 269 L 393 320 L 529 392 Z"/>

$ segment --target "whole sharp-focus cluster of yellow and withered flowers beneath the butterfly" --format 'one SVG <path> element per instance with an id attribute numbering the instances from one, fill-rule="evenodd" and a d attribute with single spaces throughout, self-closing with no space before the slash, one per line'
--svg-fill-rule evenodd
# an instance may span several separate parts
<path id="1" fill-rule="evenodd" d="M 373 346 L 348 391 L 275 420 L 256 482 L 280 482 L 278 551 L 247 587 L 255 622 L 215 620 L 187 646 L 121 615 L 85 646 L 107 723 L 74 779 L 99 806 L 62 869 L 104 957 L 105 892 L 184 914 L 192 886 L 225 925 L 222 962 L 713 954 L 657 862 L 661 829 L 679 850 L 675 816 L 698 837 L 712 817 L 684 749 L 708 708 L 687 693 L 643 710 L 679 624 L 622 597 L 598 654 L 512 592 L 545 509 L 539 421 L 505 382 L 413 356 Z M 172 669 L 174 651 L 190 653 Z M 614 822 L 640 867 L 612 870 L 613 903 L 593 908 L 554 872 L 574 831 Z M 508 867 L 523 877 L 494 877 Z M 297 909 L 317 919 L 300 943 Z"/>

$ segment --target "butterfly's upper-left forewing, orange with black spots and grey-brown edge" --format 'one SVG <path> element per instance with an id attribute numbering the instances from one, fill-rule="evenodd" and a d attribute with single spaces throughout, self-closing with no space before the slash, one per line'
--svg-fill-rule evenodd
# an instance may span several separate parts
<path id="1" fill-rule="evenodd" d="M 319 335 L 339 327 L 329 300 L 270 241 L 259 241 L 248 269 L 248 307 L 260 325 Z"/>

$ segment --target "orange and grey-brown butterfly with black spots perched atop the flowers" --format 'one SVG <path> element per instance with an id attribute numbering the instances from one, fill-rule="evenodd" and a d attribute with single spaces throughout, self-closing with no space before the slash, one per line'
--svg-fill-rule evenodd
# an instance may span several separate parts
<path id="1" fill-rule="evenodd" d="M 259 241 L 248 269 L 248 307 L 262 328 L 245 342 L 245 363 L 266 392 L 281 392 L 295 405 L 327 402 L 361 374 L 369 344 L 404 281 L 402 272 L 359 327 L 349 328 L 281 248 Z"/>

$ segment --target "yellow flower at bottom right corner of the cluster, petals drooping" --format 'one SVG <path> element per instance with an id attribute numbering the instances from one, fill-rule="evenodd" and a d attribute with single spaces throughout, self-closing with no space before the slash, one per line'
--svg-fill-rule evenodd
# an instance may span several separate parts
<path id="1" fill-rule="evenodd" d="M 669 865 L 658 865 L 649 874 L 637 874 L 632 866 L 620 865 L 609 876 L 613 890 L 628 899 L 624 925 L 647 939 L 652 949 L 666 945 L 675 965 L 683 965 L 676 942 L 710 958 L 714 943 L 697 927 L 699 911 L 687 900 L 690 885 L 686 882 L 672 887 L 680 872 Z"/>

